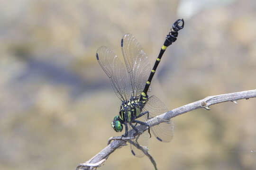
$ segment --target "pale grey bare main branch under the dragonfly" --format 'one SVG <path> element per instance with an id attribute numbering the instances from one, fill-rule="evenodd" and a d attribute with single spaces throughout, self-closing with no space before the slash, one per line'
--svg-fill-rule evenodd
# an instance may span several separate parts
<path id="1" fill-rule="evenodd" d="M 189 104 L 186 104 L 184 106 L 181 106 L 179 108 L 176 108 L 174 110 L 167 111 L 164 114 L 159 115 L 158 117 L 152 118 L 147 120 L 146 122 L 149 123 L 150 127 L 158 125 L 159 123 L 162 123 L 168 119 L 174 118 L 178 115 L 181 115 L 183 113 L 196 110 L 199 108 L 204 108 L 206 110 L 210 110 L 209 106 L 221 102 L 234 102 L 237 104 L 237 101 L 240 99 L 249 99 L 256 97 L 256 89 L 254 90 L 248 90 L 243 92 L 236 92 L 236 93 L 227 93 L 227 94 L 220 94 L 215 96 L 208 96 L 202 100 L 192 102 Z M 153 122 L 153 123 L 152 123 Z M 146 126 L 138 125 L 138 128 L 141 128 L 142 131 L 145 131 L 147 129 Z M 134 129 L 131 129 L 130 131 L 132 134 L 135 133 Z M 112 143 L 110 143 L 107 147 L 105 147 L 100 153 L 96 154 L 94 157 L 92 157 L 89 161 L 86 161 L 86 165 L 90 165 L 88 163 L 98 163 L 101 162 L 104 159 L 107 159 L 108 156 L 114 152 L 117 148 L 122 147 L 126 145 L 126 141 L 124 140 L 114 140 Z M 105 160 L 104 160 L 105 161 Z M 104 162 L 102 161 L 102 163 Z M 77 167 L 77 170 L 89 170 L 91 169 L 90 166 L 81 166 L 80 164 Z M 100 164 L 101 165 L 101 164 Z M 99 166 L 100 166 L 99 165 Z"/>

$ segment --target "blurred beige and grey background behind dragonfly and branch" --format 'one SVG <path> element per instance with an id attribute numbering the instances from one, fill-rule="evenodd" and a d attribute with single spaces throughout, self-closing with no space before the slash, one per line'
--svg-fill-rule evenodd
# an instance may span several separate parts
<path id="1" fill-rule="evenodd" d="M 121 59 L 134 34 L 151 66 L 178 18 L 185 27 L 157 69 L 152 93 L 169 110 L 256 88 L 255 0 L 0 1 L 0 169 L 75 170 L 119 136 L 121 102 L 95 52 Z M 174 118 L 174 139 L 150 139 L 159 170 L 255 170 L 256 99 Z M 153 170 L 128 146 L 101 170 Z"/>

